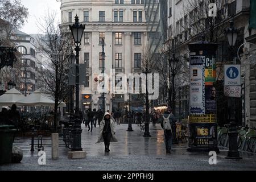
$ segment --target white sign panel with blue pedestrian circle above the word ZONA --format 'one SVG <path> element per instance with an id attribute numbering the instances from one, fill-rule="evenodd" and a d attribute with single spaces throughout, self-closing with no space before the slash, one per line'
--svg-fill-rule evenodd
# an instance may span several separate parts
<path id="1" fill-rule="evenodd" d="M 241 65 L 240 64 L 230 64 L 224 66 L 224 85 L 241 85 Z"/>

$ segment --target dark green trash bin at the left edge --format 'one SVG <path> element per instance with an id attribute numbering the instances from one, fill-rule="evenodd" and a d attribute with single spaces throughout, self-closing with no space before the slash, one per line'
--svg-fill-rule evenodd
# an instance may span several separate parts
<path id="1" fill-rule="evenodd" d="M 0 125 L 0 164 L 11 163 L 14 133 L 13 125 Z"/>

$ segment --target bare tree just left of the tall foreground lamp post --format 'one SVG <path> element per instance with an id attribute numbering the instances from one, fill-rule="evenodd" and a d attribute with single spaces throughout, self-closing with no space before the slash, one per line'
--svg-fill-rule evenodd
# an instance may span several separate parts
<path id="1" fill-rule="evenodd" d="M 54 122 L 57 130 L 57 108 L 65 100 L 69 93 L 68 69 L 69 57 L 72 52 L 71 34 L 60 30 L 55 23 L 56 13 L 48 13 L 39 24 L 44 38 L 38 38 L 39 51 L 46 57 L 41 60 L 42 71 L 39 72 L 43 82 L 47 85 L 43 88 L 55 100 Z"/>

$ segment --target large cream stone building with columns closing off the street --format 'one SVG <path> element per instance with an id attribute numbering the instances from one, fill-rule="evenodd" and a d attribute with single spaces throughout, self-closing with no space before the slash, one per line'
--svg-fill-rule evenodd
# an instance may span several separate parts
<path id="1" fill-rule="evenodd" d="M 141 54 L 147 45 L 144 0 L 61 0 L 61 28 L 75 22 L 85 24 L 81 40 L 80 64 L 86 64 L 88 82 L 80 85 L 80 108 L 100 109 L 94 78 L 102 72 L 102 39 L 105 43 L 105 73 L 140 72 Z M 128 105 L 129 95 L 105 94 L 105 109 L 122 109 Z M 132 101 L 133 104 L 133 101 Z"/>

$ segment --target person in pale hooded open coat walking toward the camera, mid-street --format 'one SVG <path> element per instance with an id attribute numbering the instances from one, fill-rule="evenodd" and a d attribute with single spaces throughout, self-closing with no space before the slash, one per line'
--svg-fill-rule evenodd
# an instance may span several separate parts
<path id="1" fill-rule="evenodd" d="M 101 121 L 100 125 L 100 135 L 96 143 L 104 142 L 105 152 L 109 152 L 110 142 L 117 142 L 117 138 L 115 138 L 115 125 L 112 119 L 113 117 L 106 112 L 104 114 L 104 118 Z"/>

